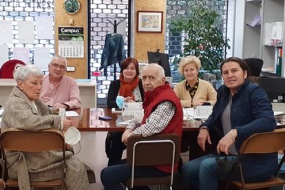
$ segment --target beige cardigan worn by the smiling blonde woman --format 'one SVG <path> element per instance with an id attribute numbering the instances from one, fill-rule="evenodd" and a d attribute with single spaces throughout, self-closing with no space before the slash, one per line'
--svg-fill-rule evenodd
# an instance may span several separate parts
<path id="1" fill-rule="evenodd" d="M 189 91 L 186 90 L 186 79 L 176 85 L 174 92 L 180 99 L 182 107 L 191 107 L 191 96 Z M 207 101 L 214 105 L 217 101 L 217 92 L 211 85 L 211 83 L 199 78 L 199 86 L 196 94 L 193 97 L 193 101 Z"/>

